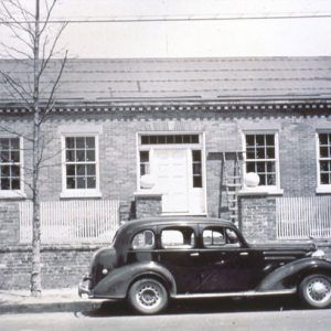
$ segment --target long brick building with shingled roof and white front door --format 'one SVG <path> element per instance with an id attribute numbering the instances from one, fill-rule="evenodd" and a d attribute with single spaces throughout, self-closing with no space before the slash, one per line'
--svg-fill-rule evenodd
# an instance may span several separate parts
<path id="1" fill-rule="evenodd" d="M 0 70 L 29 86 L 26 62 L 0 61 Z M 43 125 L 42 201 L 118 201 L 121 221 L 221 216 L 252 242 L 291 238 L 291 225 L 279 226 L 281 199 L 330 205 L 330 78 L 331 57 L 72 60 Z M 0 81 L 0 287 L 28 277 L 31 120 Z M 318 234 L 329 237 L 323 220 Z M 44 286 L 63 275 L 76 282 L 97 246 L 45 243 Z"/>

